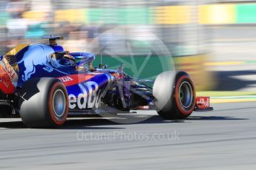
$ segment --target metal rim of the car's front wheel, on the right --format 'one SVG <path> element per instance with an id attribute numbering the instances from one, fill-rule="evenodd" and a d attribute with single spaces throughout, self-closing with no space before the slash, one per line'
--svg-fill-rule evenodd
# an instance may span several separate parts
<path id="1" fill-rule="evenodd" d="M 179 101 L 183 108 L 189 108 L 193 102 L 193 89 L 188 81 L 183 81 L 179 88 Z"/>

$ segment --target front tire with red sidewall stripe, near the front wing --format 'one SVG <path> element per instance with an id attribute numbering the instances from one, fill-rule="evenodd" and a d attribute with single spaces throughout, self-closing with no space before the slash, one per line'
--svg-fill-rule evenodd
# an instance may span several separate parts
<path id="1" fill-rule="evenodd" d="M 153 87 L 158 115 L 169 120 L 187 118 L 194 111 L 196 95 L 186 72 L 168 71 L 157 76 Z"/>

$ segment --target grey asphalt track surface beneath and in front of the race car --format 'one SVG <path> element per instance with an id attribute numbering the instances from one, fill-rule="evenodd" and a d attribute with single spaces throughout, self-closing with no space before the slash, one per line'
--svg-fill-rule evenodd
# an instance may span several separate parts
<path id="1" fill-rule="evenodd" d="M 27 129 L 1 119 L 0 169 L 255 169 L 256 103 L 214 104 L 169 121 L 68 120 L 61 129 Z M 136 116 L 136 115 L 133 115 Z"/>

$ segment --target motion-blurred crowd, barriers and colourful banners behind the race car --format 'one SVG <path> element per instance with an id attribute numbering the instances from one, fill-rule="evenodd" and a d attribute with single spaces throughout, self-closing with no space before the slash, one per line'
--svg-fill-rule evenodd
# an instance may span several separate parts
<path id="1" fill-rule="evenodd" d="M 1 0 L 0 52 L 62 35 L 67 50 L 96 50 L 96 64 L 123 61 L 140 78 L 175 66 L 198 90 L 214 91 L 203 95 L 252 95 L 255 26 L 256 1 L 249 0 Z M 170 58 L 166 49 L 174 62 L 157 62 L 156 55 Z"/>

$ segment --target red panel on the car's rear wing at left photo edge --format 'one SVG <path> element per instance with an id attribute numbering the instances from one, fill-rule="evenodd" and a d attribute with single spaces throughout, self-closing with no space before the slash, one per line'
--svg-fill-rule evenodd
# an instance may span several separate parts
<path id="1" fill-rule="evenodd" d="M 12 95 L 15 92 L 15 86 L 13 86 L 12 81 L 8 73 L 5 71 L 3 67 L 0 66 L 0 89 L 6 95 Z"/>

